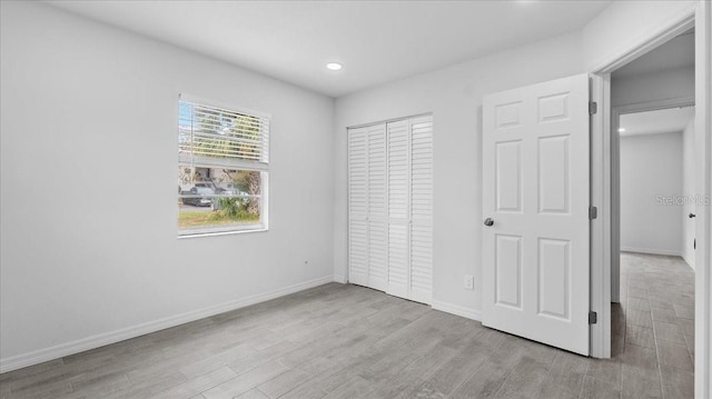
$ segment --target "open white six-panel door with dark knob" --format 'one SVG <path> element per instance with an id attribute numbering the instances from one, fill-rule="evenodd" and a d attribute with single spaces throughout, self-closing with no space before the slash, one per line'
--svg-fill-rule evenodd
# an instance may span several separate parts
<path id="1" fill-rule="evenodd" d="M 483 323 L 587 356 L 589 77 L 487 96 L 483 123 Z"/>

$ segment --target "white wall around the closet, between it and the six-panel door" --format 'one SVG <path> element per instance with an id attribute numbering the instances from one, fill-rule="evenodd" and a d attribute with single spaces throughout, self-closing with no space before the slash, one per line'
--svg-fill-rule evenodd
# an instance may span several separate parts
<path id="1" fill-rule="evenodd" d="M 577 33 L 385 84 L 336 101 L 336 276 L 346 276 L 346 128 L 433 112 L 434 306 L 478 317 L 482 261 L 482 98 L 583 71 Z M 463 288 L 475 276 L 475 290 Z"/>

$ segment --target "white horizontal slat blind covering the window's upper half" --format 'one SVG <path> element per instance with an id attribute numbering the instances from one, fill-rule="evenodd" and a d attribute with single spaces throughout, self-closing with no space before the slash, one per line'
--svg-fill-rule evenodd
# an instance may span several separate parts
<path id="1" fill-rule="evenodd" d="M 179 101 L 180 164 L 267 170 L 269 118 Z"/>

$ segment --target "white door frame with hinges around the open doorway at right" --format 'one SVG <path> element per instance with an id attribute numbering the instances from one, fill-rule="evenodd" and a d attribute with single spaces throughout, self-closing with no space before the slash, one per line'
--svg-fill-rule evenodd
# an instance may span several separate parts
<path id="1" fill-rule="evenodd" d="M 694 27 L 695 29 L 695 148 L 698 193 L 710 198 L 712 193 L 712 4 L 696 1 L 684 12 L 671 16 L 664 24 L 645 32 L 636 42 L 591 69 L 592 98 L 601 112 L 591 122 L 591 199 L 600 207 L 600 218 L 592 221 L 591 229 L 591 307 L 600 311 L 599 323 L 592 325 L 592 356 L 611 357 L 611 76 L 625 63 L 655 49 L 660 44 Z M 712 279 L 710 260 L 712 252 L 712 211 L 699 207 L 695 218 L 698 249 L 695 253 L 695 397 L 710 397 L 712 380 Z"/>

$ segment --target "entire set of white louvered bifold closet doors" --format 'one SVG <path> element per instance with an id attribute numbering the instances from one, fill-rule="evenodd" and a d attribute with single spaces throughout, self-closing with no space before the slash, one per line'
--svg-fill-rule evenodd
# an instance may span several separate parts
<path id="1" fill-rule="evenodd" d="M 349 281 L 431 303 L 433 119 L 348 131 Z"/>

